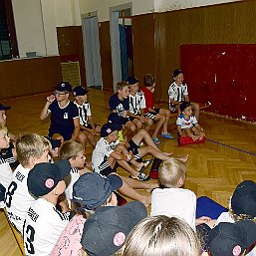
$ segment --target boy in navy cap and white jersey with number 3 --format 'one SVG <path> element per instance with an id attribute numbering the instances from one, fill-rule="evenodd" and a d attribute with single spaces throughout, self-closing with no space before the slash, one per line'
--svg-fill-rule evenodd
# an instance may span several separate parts
<path id="1" fill-rule="evenodd" d="M 57 208 L 59 196 L 65 191 L 64 178 L 69 175 L 69 160 L 57 163 L 36 164 L 28 175 L 28 189 L 38 199 L 27 212 L 24 227 L 24 248 L 26 255 L 49 255 L 61 232 L 69 223 L 68 207 Z"/>

